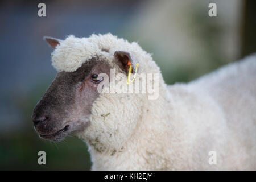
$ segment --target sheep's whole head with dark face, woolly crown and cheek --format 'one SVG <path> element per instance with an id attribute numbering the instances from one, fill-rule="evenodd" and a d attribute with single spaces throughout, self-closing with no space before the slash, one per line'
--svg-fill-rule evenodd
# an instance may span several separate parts
<path id="1" fill-rule="evenodd" d="M 93 144 L 97 150 L 113 143 L 121 146 L 133 133 L 141 115 L 140 96 L 99 93 L 98 86 L 102 81 L 111 80 L 110 69 L 127 77 L 128 61 L 135 67 L 133 53 L 118 50 L 126 46 L 142 49 L 138 44 L 130 44 L 112 35 L 107 35 L 107 38 L 94 35 L 86 40 L 73 36 L 63 41 L 46 40 L 55 48 L 52 64 L 58 72 L 34 109 L 35 130 L 40 137 L 54 141 L 73 133 Z M 100 73 L 108 75 L 109 80 L 98 78 Z"/>

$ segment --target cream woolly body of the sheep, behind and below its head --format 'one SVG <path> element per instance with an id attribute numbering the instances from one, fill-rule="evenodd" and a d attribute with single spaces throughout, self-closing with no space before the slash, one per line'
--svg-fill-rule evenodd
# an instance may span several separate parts
<path id="1" fill-rule="evenodd" d="M 122 152 L 93 169 L 256 169 L 256 56 L 147 100 Z M 217 164 L 208 155 L 216 151 Z"/>

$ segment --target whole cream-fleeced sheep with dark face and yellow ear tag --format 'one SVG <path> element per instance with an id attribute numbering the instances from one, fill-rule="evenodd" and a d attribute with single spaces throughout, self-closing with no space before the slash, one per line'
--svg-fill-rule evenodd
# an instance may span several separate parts
<path id="1" fill-rule="evenodd" d="M 136 42 L 112 34 L 45 39 L 54 48 L 57 76 L 32 115 L 41 138 L 58 142 L 73 134 L 84 140 L 93 170 L 256 169 L 256 55 L 166 85 Z M 135 80 L 158 75 L 147 80 L 158 82 L 157 97 L 107 92 L 118 80 L 127 85 L 136 63 Z M 99 86 L 102 80 L 110 84 Z"/>

